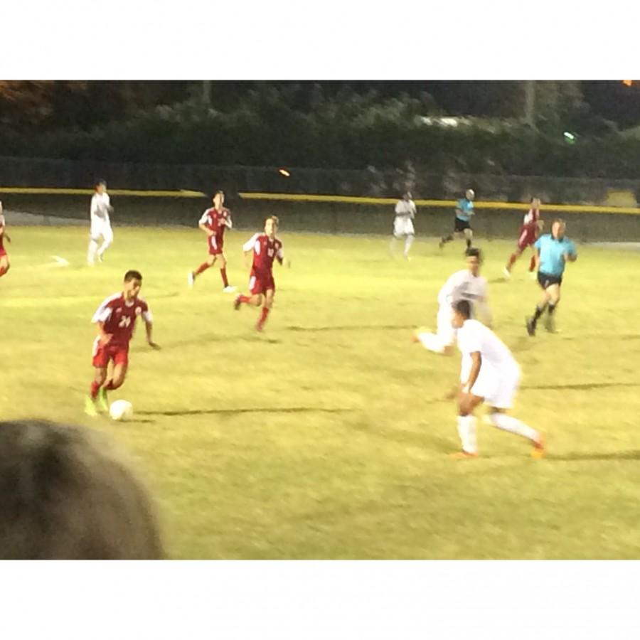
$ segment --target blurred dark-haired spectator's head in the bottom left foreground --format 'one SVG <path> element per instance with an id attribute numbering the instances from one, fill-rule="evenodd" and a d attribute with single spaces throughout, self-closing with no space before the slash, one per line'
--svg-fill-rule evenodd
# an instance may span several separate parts
<path id="1" fill-rule="evenodd" d="M 149 493 L 100 434 L 0 422 L 0 560 L 163 557 Z"/>

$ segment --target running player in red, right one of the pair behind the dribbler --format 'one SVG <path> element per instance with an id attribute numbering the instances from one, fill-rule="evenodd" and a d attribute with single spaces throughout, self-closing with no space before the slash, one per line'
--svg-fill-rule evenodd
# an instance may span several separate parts
<path id="1" fill-rule="evenodd" d="M 257 321 L 255 328 L 262 331 L 267 322 L 267 316 L 273 305 L 275 293 L 275 282 L 273 279 L 273 260 L 284 264 L 284 252 L 282 242 L 275 237 L 278 230 L 278 219 L 275 215 L 265 220 L 265 233 L 256 233 L 251 240 L 242 245 L 245 255 L 253 252 L 253 265 L 251 267 L 251 277 L 249 280 L 250 296 L 240 294 L 236 296 L 233 307 L 237 311 L 242 303 L 251 306 L 262 306 L 262 314 Z M 286 261 L 287 267 L 291 266 L 291 261 Z"/>

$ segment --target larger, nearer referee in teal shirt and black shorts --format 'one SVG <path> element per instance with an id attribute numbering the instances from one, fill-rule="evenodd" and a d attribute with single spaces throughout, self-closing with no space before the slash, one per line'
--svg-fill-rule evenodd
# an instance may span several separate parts
<path id="1" fill-rule="evenodd" d="M 554 331 L 553 312 L 560 302 L 560 285 L 567 260 L 577 260 L 577 250 L 573 240 L 565 237 L 565 221 L 553 220 L 551 233 L 541 235 L 535 241 L 535 257 L 538 260 L 538 283 L 543 288 L 543 297 L 535 306 L 533 316 L 526 319 L 527 332 L 535 336 L 535 326 L 540 316 L 547 311 L 545 329 Z"/>

